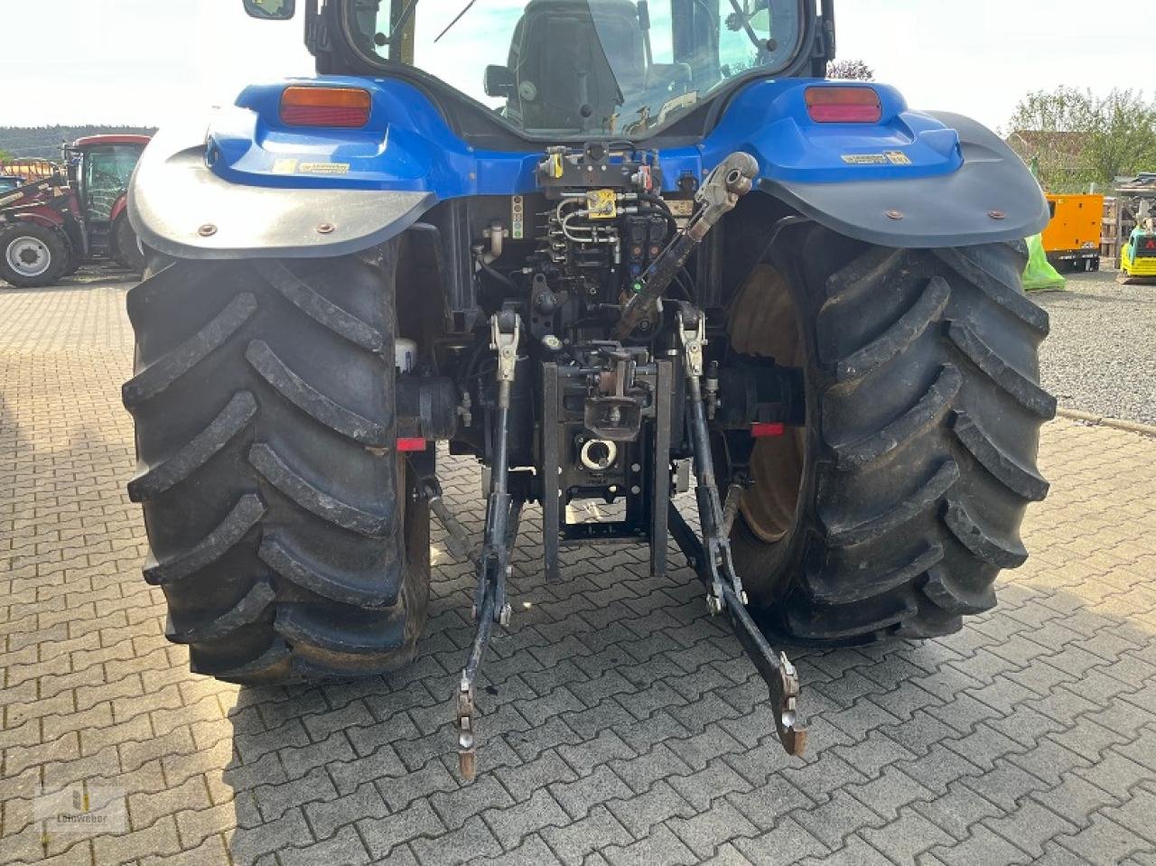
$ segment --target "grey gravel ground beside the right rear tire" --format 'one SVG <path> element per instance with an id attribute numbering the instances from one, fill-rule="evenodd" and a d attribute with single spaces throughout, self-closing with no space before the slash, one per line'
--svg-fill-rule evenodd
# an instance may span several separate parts
<path id="1" fill-rule="evenodd" d="M 1067 276 L 1066 291 L 1032 295 L 1052 317 L 1044 387 L 1069 409 L 1156 424 L 1156 284 L 1120 286 L 1114 272 Z"/>

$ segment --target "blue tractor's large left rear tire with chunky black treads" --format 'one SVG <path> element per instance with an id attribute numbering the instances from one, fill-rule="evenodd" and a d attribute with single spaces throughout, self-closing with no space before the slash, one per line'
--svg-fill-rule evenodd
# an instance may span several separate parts
<path id="1" fill-rule="evenodd" d="M 169 639 L 242 683 L 409 661 L 429 509 L 395 445 L 392 251 L 157 260 L 128 293 L 150 553 Z"/>

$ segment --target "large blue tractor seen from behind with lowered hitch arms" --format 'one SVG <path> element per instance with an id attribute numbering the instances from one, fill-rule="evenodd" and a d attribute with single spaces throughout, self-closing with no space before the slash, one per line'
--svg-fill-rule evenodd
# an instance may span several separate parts
<path id="1" fill-rule="evenodd" d="M 1021 287 L 1047 205 L 999 138 L 827 80 L 832 0 L 301 12 L 318 75 L 162 131 L 132 185 L 153 258 L 128 491 L 194 671 L 410 661 L 432 512 L 476 565 L 472 777 L 527 503 L 550 580 L 583 545 L 646 546 L 662 575 L 674 541 L 793 754 L 784 647 L 935 637 L 995 604 L 1055 407 Z M 486 467 L 474 549 L 437 443 Z M 616 518 L 571 520 L 584 499 Z"/>

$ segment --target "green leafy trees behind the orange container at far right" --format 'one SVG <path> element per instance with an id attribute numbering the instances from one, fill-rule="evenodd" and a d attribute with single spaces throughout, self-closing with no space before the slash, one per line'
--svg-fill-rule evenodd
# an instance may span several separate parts
<path id="1" fill-rule="evenodd" d="M 1009 143 L 1053 192 L 1109 187 L 1118 176 L 1156 168 L 1156 102 L 1142 91 L 1036 90 L 1020 101 L 1010 127 Z"/>

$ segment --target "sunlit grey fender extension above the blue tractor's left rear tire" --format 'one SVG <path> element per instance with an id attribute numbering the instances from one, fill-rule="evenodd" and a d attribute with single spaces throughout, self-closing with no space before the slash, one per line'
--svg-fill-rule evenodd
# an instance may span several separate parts
<path id="1" fill-rule="evenodd" d="M 222 180 L 205 163 L 208 120 L 162 129 L 133 172 L 128 216 L 141 243 L 181 259 L 323 258 L 401 234 L 432 193 L 279 190 Z"/>

